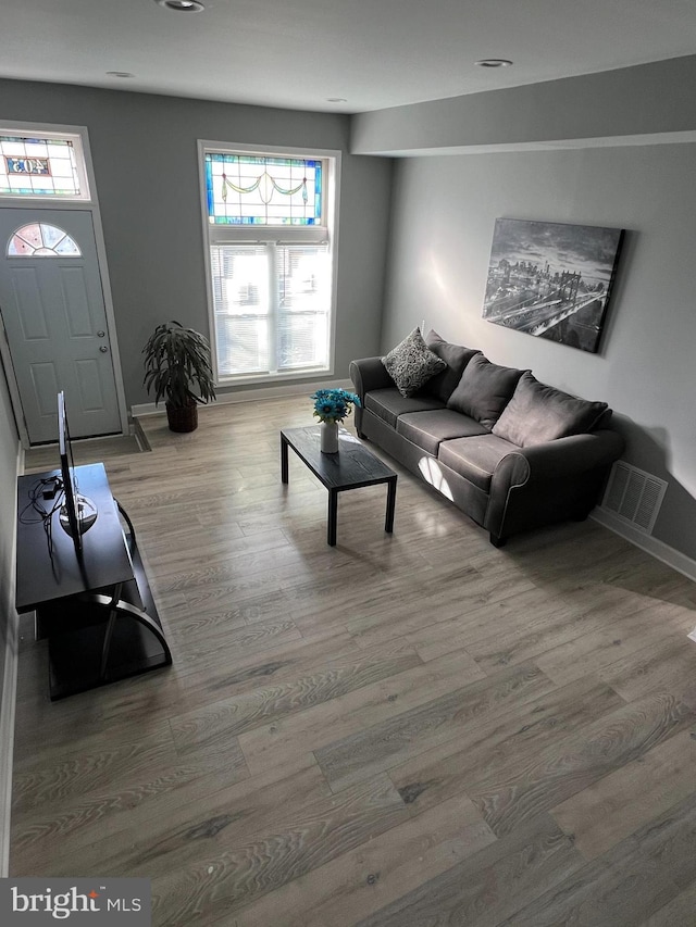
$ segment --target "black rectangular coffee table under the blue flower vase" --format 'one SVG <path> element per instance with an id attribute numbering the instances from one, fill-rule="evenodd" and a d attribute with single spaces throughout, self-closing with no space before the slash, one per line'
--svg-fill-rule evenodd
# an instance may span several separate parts
<path id="1" fill-rule="evenodd" d="M 345 428 L 338 430 L 338 453 L 323 454 L 320 450 L 320 426 L 309 428 L 283 428 L 281 430 L 281 479 L 288 481 L 288 453 L 293 448 L 298 458 L 311 469 L 320 483 L 328 490 L 328 533 L 327 542 L 336 546 L 336 518 L 338 514 L 338 493 L 347 489 L 360 489 L 361 486 L 387 484 L 387 512 L 384 530 L 394 530 L 394 511 L 396 508 L 396 478 L 393 469 L 382 463 L 372 451 Z"/>

